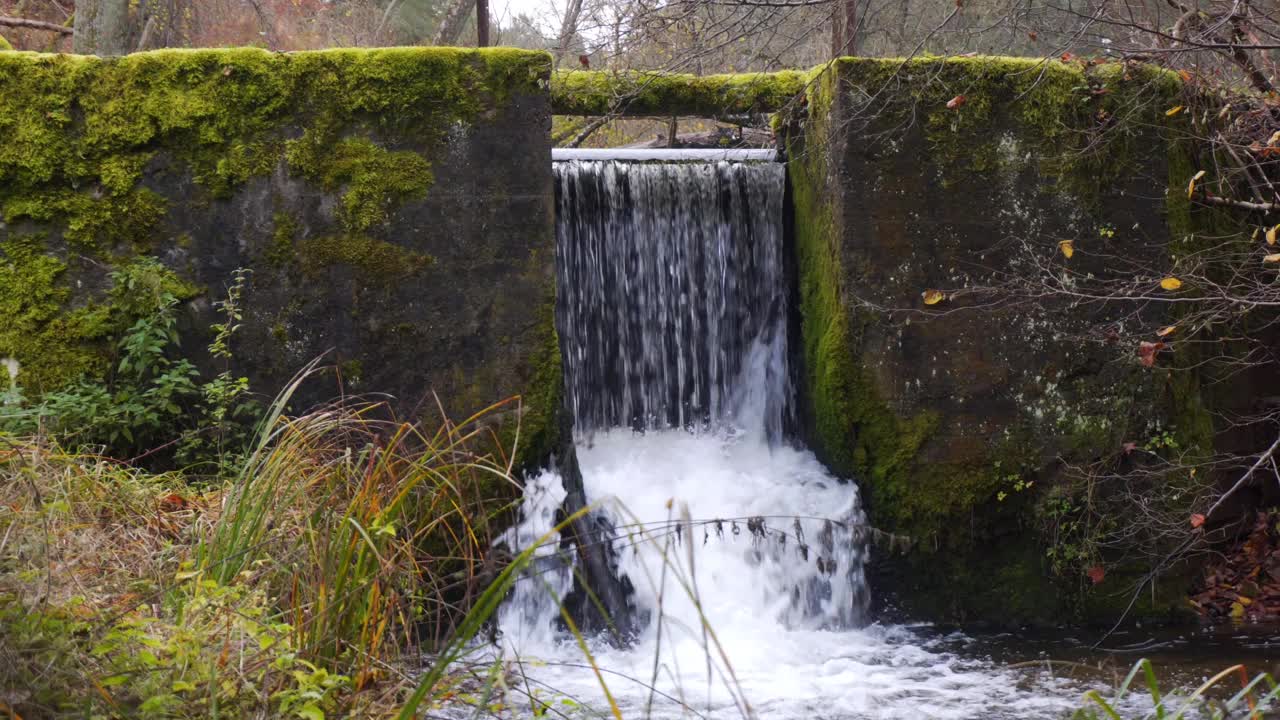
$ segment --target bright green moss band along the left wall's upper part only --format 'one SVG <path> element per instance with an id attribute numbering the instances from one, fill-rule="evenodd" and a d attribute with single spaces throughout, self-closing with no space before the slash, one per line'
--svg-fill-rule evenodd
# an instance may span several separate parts
<path id="1" fill-rule="evenodd" d="M 0 208 L 8 220 L 61 223 L 83 246 L 146 246 L 164 215 L 137 187 L 150 161 L 186 165 L 227 197 L 276 167 L 291 127 L 320 141 L 364 128 L 430 150 L 511 94 L 543 92 L 549 73 L 549 56 L 518 50 L 14 53 L 0 60 Z M 424 158 L 369 140 L 310 160 L 307 177 L 346 187 L 351 232 L 430 184 Z"/>

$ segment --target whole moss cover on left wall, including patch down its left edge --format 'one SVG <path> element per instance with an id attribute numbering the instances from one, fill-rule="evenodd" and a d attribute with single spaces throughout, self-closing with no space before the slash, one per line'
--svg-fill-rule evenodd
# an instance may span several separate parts
<path id="1" fill-rule="evenodd" d="M 381 288 L 430 268 L 390 232 L 397 211 L 429 196 L 448 143 L 545 95 L 549 73 L 547 54 L 506 49 L 5 53 L 0 356 L 28 393 L 99 374 L 106 273 L 141 255 L 219 287 L 257 258 L 262 283 L 349 266 Z M 269 176 L 287 195 L 270 237 L 183 224 Z"/>

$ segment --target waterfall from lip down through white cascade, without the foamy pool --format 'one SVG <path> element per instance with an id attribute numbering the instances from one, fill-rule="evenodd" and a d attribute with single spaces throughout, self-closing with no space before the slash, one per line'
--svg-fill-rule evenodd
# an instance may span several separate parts
<path id="1" fill-rule="evenodd" d="M 696 624 L 712 600 L 788 628 L 860 623 L 856 488 L 783 443 L 782 165 L 573 160 L 554 172 L 567 406 L 605 528 L 590 542 L 608 546 L 635 624 Z M 530 480 L 507 544 L 550 529 L 545 498 L 564 497 L 548 495 L 550 477 Z M 541 637 L 557 623 L 547 594 L 567 593 L 566 571 L 545 562 L 508 602 L 504 632 Z M 663 594 L 672 573 L 686 592 Z"/>

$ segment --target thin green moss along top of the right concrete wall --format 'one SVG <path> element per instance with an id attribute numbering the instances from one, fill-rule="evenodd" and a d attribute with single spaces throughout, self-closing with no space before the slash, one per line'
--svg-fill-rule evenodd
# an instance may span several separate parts
<path id="1" fill-rule="evenodd" d="M 1085 199 L 1147 160 L 1148 129 L 1164 124 L 1181 90 L 1171 72 L 1124 63 L 920 56 L 847 58 L 836 67 L 877 128 L 923 118 L 945 184 L 1016 172 L 1030 160 L 1042 177 Z"/>

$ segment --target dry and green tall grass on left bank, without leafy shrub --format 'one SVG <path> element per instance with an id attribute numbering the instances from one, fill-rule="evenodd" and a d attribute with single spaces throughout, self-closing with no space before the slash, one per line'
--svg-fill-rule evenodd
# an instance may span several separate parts
<path id="1" fill-rule="evenodd" d="M 287 416 L 305 377 L 212 486 L 0 438 L 0 716 L 390 715 L 488 621 L 518 398 L 431 429 Z"/>

